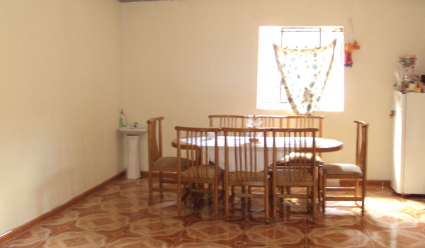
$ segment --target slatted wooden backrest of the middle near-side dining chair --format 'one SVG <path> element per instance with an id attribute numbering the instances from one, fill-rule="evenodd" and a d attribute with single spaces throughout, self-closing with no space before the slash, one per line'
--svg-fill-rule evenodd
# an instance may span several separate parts
<path id="1" fill-rule="evenodd" d="M 222 130 L 225 135 L 225 180 L 229 178 L 229 163 L 234 163 L 236 181 L 261 181 L 261 178 L 266 180 L 268 148 L 264 144 L 270 129 L 223 128 Z M 259 145 L 261 143 L 262 146 Z M 260 176 L 257 172 L 264 175 Z"/>

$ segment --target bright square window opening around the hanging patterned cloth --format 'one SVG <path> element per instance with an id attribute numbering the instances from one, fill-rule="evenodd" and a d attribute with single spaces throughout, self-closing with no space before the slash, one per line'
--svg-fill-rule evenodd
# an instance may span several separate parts
<path id="1" fill-rule="evenodd" d="M 276 64 L 273 44 L 296 49 L 327 45 L 336 39 L 334 64 L 317 111 L 344 111 L 344 29 L 342 27 L 259 28 L 257 108 L 291 109 Z"/>

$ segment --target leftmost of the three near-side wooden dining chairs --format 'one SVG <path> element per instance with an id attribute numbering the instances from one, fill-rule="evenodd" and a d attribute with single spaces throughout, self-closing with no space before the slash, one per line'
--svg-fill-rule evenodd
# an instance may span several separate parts
<path id="1" fill-rule="evenodd" d="M 219 186 L 223 170 L 219 166 L 217 137 L 220 128 L 186 128 L 177 130 L 177 208 L 181 215 L 181 201 L 191 193 L 210 193 L 214 196 L 214 215 L 218 217 Z M 183 139 L 183 141 L 182 141 Z M 210 148 L 209 148 L 210 147 Z M 183 167 L 182 150 L 186 150 L 188 164 Z M 213 158 L 214 164 L 210 164 Z M 208 188 L 205 188 L 208 184 Z M 182 194 L 182 185 L 188 186 Z M 211 189 L 211 186 L 213 187 Z"/>

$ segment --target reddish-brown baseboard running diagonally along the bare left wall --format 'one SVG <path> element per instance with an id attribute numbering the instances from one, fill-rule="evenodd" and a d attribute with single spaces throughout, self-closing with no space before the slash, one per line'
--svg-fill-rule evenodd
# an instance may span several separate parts
<path id="1" fill-rule="evenodd" d="M 52 215 L 60 213 L 62 210 L 69 208 L 70 205 L 77 203 L 77 201 L 81 200 L 82 198 L 85 198 L 86 196 L 89 196 L 89 194 L 93 193 L 94 191 L 98 190 L 99 188 L 102 188 L 106 184 L 109 184 L 109 183 L 111 183 L 111 181 L 115 181 L 116 179 L 118 179 L 122 176 L 125 176 L 125 171 L 121 171 L 120 173 L 116 174 L 115 176 L 111 177 L 110 179 L 103 181 L 103 183 L 98 184 L 97 186 L 94 186 L 93 188 L 90 188 L 88 191 L 85 191 L 84 193 L 81 193 L 79 196 L 75 196 L 71 200 L 67 201 L 67 203 L 59 205 L 56 208 L 53 208 L 52 210 L 50 210 L 46 213 L 43 213 L 42 215 L 38 216 L 37 218 L 35 218 L 33 220 L 26 222 L 23 225 L 20 225 L 16 228 L 13 228 L 12 230 L 8 230 L 4 234 L 0 235 L 0 246 L 2 244 L 4 244 L 5 242 L 7 242 L 9 239 L 13 239 L 13 237 L 21 235 L 23 232 L 30 229 L 31 227 L 38 225 L 43 220 L 46 220 L 47 218 L 52 217 Z"/>

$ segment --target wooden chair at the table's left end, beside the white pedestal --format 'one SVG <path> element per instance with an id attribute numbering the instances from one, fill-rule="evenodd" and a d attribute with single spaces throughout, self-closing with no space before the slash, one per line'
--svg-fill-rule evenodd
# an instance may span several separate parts
<path id="1" fill-rule="evenodd" d="M 147 120 L 147 150 L 149 159 L 148 184 L 149 203 L 152 203 L 153 192 L 174 192 L 177 188 L 164 188 L 166 184 L 176 184 L 177 157 L 162 156 L 162 120 L 164 117 L 151 118 Z M 187 164 L 187 159 L 182 159 Z M 159 177 L 159 187 L 154 187 L 153 177 Z M 164 177 L 166 179 L 164 179 Z"/>

